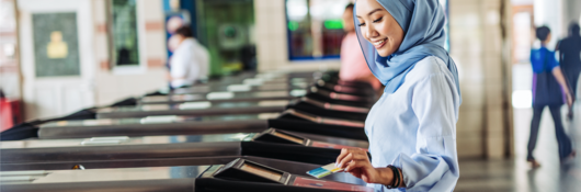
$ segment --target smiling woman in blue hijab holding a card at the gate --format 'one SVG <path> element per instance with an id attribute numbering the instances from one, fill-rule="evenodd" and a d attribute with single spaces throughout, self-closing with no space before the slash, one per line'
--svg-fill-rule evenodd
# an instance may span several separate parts
<path id="1" fill-rule="evenodd" d="M 441 4 L 358 0 L 354 18 L 367 66 L 386 89 L 365 122 L 373 161 L 345 148 L 337 166 L 376 191 L 453 191 L 462 99 L 456 66 L 443 48 Z"/>

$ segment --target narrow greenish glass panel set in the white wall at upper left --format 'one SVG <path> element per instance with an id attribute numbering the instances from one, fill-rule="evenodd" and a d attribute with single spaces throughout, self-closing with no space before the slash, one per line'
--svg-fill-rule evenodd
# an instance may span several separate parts
<path id="1" fill-rule="evenodd" d="M 114 65 L 139 65 L 136 1 L 112 0 L 111 4 Z"/>

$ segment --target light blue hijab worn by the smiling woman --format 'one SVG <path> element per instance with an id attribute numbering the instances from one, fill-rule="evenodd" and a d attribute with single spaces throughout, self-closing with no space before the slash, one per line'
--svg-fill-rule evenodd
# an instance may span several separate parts
<path id="1" fill-rule="evenodd" d="M 459 94 L 456 64 L 444 49 L 446 16 L 437 0 L 377 0 L 403 29 L 405 37 L 390 56 L 381 57 L 361 34 L 355 10 L 353 16 L 360 45 L 373 75 L 386 86 L 385 92 L 394 93 L 403 83 L 408 72 L 421 59 L 436 56 L 444 60 L 454 76 Z M 355 4 L 356 5 L 356 4 Z"/>

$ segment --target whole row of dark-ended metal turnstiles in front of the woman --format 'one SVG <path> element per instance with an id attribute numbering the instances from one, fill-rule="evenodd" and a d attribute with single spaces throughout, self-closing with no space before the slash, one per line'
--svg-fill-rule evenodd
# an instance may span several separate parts
<path id="1" fill-rule="evenodd" d="M 0 133 L 0 191 L 373 191 L 308 170 L 368 148 L 376 92 L 337 72 L 241 74 Z"/>

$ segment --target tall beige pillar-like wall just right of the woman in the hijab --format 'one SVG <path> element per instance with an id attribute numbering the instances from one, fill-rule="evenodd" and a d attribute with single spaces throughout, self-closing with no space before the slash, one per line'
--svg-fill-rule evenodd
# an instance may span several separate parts
<path id="1" fill-rule="evenodd" d="M 510 154 L 510 68 L 501 33 L 502 0 L 451 0 L 451 55 L 458 65 L 463 104 L 457 123 L 459 157 Z M 508 33 L 509 34 L 509 33 Z"/>

